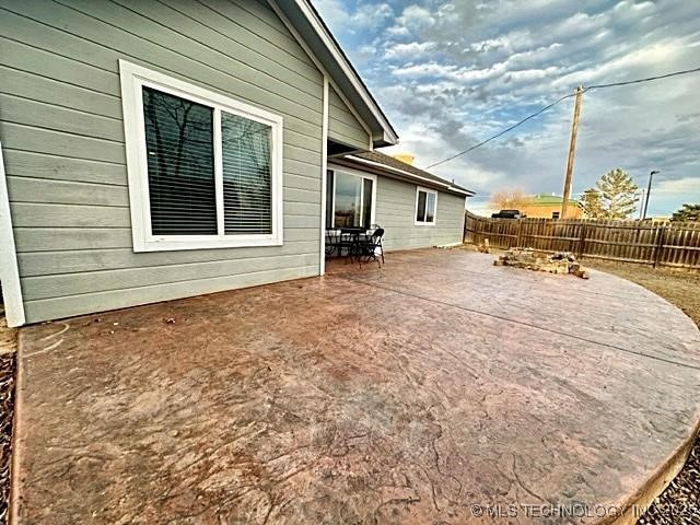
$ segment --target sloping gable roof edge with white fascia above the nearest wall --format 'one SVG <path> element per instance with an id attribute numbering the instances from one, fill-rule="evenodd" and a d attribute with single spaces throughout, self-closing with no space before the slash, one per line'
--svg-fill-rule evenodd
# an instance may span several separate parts
<path id="1" fill-rule="evenodd" d="M 268 0 L 284 22 L 291 24 L 292 34 L 307 48 L 335 86 L 352 104 L 372 131 L 375 148 L 398 142 L 398 135 L 380 108 L 370 90 L 352 67 L 328 26 L 308 0 Z"/>

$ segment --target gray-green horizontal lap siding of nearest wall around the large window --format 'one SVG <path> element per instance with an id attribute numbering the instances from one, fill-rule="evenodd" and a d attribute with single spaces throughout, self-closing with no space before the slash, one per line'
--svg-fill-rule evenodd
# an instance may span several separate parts
<path id="1" fill-rule="evenodd" d="M 323 77 L 259 0 L 0 0 L 0 140 L 28 322 L 318 273 Z M 284 117 L 284 245 L 132 250 L 118 59 Z"/>

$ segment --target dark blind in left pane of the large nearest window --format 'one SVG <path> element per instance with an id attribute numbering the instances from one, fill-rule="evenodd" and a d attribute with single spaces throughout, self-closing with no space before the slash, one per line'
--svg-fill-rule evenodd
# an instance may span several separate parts
<path id="1" fill-rule="evenodd" d="M 217 234 L 212 108 L 142 90 L 153 235 Z"/>

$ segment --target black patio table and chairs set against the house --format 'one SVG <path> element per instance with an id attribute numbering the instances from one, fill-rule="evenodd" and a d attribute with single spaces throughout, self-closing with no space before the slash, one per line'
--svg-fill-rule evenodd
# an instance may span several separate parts
<path id="1" fill-rule="evenodd" d="M 369 229 L 326 229 L 326 257 L 345 257 L 346 262 L 357 260 L 360 265 L 376 260 L 381 268 L 384 264 L 383 237 L 384 229 L 376 224 Z"/>

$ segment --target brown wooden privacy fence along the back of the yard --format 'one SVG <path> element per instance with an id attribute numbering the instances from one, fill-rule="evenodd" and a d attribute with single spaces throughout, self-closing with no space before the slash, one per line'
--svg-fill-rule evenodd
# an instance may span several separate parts
<path id="1" fill-rule="evenodd" d="M 578 257 L 700 269 L 700 223 L 491 219 L 466 212 L 464 242 L 573 252 Z"/>

